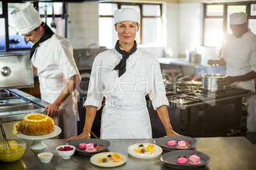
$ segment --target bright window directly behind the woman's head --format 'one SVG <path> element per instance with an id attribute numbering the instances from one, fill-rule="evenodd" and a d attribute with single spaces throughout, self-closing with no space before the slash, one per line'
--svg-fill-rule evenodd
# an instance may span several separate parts
<path id="1" fill-rule="evenodd" d="M 162 43 L 162 4 L 99 3 L 99 46 L 115 46 L 118 37 L 114 28 L 114 11 L 121 8 L 132 8 L 141 15 L 135 39 L 138 44 Z"/>

